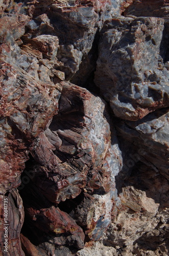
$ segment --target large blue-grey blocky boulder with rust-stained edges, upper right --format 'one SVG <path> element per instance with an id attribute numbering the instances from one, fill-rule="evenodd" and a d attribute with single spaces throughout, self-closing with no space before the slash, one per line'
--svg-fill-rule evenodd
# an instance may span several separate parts
<path id="1" fill-rule="evenodd" d="M 122 119 L 168 106 L 168 71 L 159 55 L 163 29 L 156 17 L 112 19 L 103 27 L 94 81 Z"/>

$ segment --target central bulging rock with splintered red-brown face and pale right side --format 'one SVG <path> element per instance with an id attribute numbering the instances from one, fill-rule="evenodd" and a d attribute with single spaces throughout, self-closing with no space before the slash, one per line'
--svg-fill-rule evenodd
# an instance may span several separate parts
<path id="1" fill-rule="evenodd" d="M 112 170 L 109 173 L 101 166 L 102 161 L 105 165 L 109 165 L 111 158 L 115 159 L 110 145 L 109 124 L 103 115 L 104 102 L 73 84 L 62 83 L 62 86 L 59 113 L 49 123 L 45 134 L 41 134 L 36 139 L 32 151 L 34 159 L 42 165 L 39 165 L 39 168 L 38 165 L 35 167 L 35 173 L 41 177 L 38 180 L 35 178 L 35 183 L 42 189 L 42 193 L 50 195 L 50 198 L 46 196 L 51 202 L 57 203 L 80 194 L 81 188 L 86 186 L 89 169 L 92 175 L 95 175 L 95 172 L 103 172 L 105 176 L 101 184 L 99 184 L 100 178 L 95 177 L 98 185 L 93 186 L 90 182 L 89 187 L 93 190 L 103 186 L 103 190 L 109 192 L 110 189 L 106 189 L 110 187 L 107 175 L 110 176 Z M 91 104 L 97 106 L 95 109 L 92 108 L 92 112 Z M 100 120 L 102 120 L 101 126 Z M 95 129 L 97 134 L 94 133 Z M 113 170 L 112 175 L 118 172 L 118 164 L 115 165 L 115 162 L 114 167 L 116 169 Z M 50 180 L 47 181 L 47 173 L 51 171 L 54 178 L 50 175 Z M 53 185 L 51 184 L 49 193 L 44 186 L 49 186 L 50 182 Z"/>

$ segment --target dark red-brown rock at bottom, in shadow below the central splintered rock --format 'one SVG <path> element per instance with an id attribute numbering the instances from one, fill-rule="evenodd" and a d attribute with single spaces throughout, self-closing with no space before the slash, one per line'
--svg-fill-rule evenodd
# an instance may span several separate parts
<path id="1" fill-rule="evenodd" d="M 34 193 L 35 196 L 32 202 L 30 201 L 31 193 Z M 30 197 L 26 198 L 26 194 Z M 33 253 L 34 249 L 47 253 L 50 247 L 55 251 L 55 246 L 57 248 L 63 245 L 79 249 L 84 247 L 85 234 L 82 228 L 66 212 L 61 211 L 58 207 L 50 206 L 45 197 L 40 195 L 39 190 L 33 188 L 32 183 L 21 191 L 21 196 L 25 198 L 26 212 L 23 234 L 27 234 L 31 247 L 30 249 L 27 249 L 27 246 L 23 248 L 26 254 L 30 251 Z M 42 208 L 43 206 L 47 208 Z M 29 235 L 28 231 L 33 233 L 33 237 Z M 38 244 L 40 246 L 37 246 Z"/>

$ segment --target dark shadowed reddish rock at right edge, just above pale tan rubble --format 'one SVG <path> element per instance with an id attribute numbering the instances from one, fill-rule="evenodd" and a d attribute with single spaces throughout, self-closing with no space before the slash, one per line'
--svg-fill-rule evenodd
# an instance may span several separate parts
<path id="1" fill-rule="evenodd" d="M 120 182 L 119 179 L 122 179 L 122 177 L 123 181 Z M 115 178 L 118 194 L 122 193 L 122 189 L 125 187 L 134 187 L 135 189 L 145 191 L 146 196 L 152 198 L 156 204 L 159 204 L 160 209 L 169 207 L 169 182 L 150 166 L 138 161 L 132 168 L 129 168 L 126 177 L 120 174 Z M 118 184 L 120 184 L 119 187 Z"/>

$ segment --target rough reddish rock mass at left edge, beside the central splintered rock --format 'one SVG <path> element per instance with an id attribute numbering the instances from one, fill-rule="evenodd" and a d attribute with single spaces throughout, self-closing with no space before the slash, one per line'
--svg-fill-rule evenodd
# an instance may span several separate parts
<path id="1" fill-rule="evenodd" d="M 58 105 L 26 72 L 20 72 L 1 61 L 1 73 L 1 165 L 5 169 L 1 184 L 3 193 L 19 185 L 19 176 L 28 160 L 32 139 L 44 129 Z M 56 99 L 60 93 L 54 91 Z M 42 100 L 41 106 L 38 106 L 39 100 Z M 10 176 L 7 177 L 7 173 Z"/>

